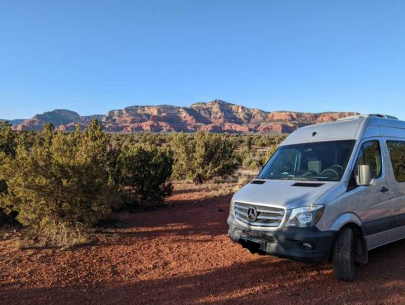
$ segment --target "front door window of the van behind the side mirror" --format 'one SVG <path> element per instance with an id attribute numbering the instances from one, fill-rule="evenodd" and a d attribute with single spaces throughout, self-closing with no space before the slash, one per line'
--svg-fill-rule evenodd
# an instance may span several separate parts
<path id="1" fill-rule="evenodd" d="M 359 165 L 369 165 L 371 177 L 378 178 L 382 172 L 380 143 L 377 140 L 363 143 L 354 166 L 354 175 L 357 176 Z"/>

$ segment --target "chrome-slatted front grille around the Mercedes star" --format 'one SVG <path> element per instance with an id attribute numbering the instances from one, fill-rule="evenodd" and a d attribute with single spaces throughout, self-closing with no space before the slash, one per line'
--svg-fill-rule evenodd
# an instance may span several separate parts
<path id="1" fill-rule="evenodd" d="M 256 209 L 256 219 L 249 219 L 248 210 L 250 208 Z M 237 220 L 250 226 L 276 228 L 280 226 L 284 220 L 285 210 L 282 208 L 235 202 L 235 216 Z"/>

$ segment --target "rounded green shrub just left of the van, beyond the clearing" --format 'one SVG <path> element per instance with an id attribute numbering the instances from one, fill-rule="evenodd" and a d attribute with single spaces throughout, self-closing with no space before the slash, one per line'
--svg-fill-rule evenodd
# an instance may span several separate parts
<path id="1" fill-rule="evenodd" d="M 193 137 L 184 133 L 172 140 L 175 164 L 174 177 L 203 183 L 214 177 L 225 177 L 238 167 L 236 141 L 225 135 L 196 132 Z"/>

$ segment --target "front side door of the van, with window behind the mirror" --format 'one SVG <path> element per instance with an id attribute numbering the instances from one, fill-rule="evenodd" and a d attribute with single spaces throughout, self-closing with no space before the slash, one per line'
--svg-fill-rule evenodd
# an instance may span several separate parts
<path id="1" fill-rule="evenodd" d="M 366 230 L 368 249 L 388 242 L 391 228 L 390 175 L 386 169 L 387 151 L 380 138 L 362 140 L 358 146 L 356 161 L 348 185 L 348 198 L 353 211 L 360 217 Z M 356 183 L 359 165 L 369 165 L 374 181 L 369 186 Z"/>

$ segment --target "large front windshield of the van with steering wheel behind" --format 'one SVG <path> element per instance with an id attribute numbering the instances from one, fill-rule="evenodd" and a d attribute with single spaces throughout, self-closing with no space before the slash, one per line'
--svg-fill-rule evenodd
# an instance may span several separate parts
<path id="1" fill-rule="evenodd" d="M 343 140 L 280 146 L 258 178 L 339 181 L 354 143 Z"/>

